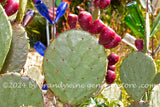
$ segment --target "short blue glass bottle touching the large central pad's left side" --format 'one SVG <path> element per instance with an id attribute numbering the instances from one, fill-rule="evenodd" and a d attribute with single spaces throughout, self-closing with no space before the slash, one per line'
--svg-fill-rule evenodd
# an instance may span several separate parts
<path id="1" fill-rule="evenodd" d="M 40 41 L 35 43 L 34 49 L 35 49 L 40 55 L 44 56 L 46 47 L 45 47 Z"/>

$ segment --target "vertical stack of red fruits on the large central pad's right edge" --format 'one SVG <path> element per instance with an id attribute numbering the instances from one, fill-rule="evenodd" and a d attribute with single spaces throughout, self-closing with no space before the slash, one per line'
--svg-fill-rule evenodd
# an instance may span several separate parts
<path id="1" fill-rule="evenodd" d="M 116 79 L 116 73 L 114 72 L 116 67 L 114 64 L 118 62 L 119 56 L 115 53 L 110 53 L 107 59 L 108 59 L 108 68 L 105 80 L 107 84 L 112 84 Z"/>

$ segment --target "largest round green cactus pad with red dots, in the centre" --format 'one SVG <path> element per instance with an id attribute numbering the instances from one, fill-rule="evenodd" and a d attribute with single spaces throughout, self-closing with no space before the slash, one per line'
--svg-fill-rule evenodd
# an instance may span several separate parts
<path id="1" fill-rule="evenodd" d="M 76 105 L 97 92 L 106 72 L 106 53 L 97 38 L 81 30 L 62 33 L 48 47 L 43 72 L 56 96 Z"/>

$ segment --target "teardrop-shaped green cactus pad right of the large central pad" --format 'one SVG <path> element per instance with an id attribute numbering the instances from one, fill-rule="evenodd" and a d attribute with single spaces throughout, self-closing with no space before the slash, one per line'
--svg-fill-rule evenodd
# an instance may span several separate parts
<path id="1" fill-rule="evenodd" d="M 120 79 L 127 93 L 139 101 L 151 86 L 156 73 L 153 59 L 142 52 L 132 52 L 123 60 Z"/>

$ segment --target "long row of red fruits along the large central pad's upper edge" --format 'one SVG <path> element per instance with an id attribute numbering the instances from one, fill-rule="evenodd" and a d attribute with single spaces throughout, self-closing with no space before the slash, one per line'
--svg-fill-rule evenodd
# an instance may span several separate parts
<path id="1" fill-rule="evenodd" d="M 83 30 L 89 31 L 91 34 L 100 33 L 99 44 L 103 45 L 106 49 L 114 48 L 121 42 L 121 37 L 100 19 L 92 23 L 92 15 L 87 11 L 81 11 L 78 16 L 76 14 L 69 14 L 67 21 L 71 29 L 76 27 L 78 21 Z"/>

